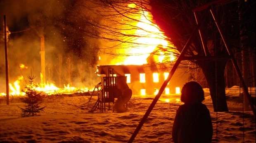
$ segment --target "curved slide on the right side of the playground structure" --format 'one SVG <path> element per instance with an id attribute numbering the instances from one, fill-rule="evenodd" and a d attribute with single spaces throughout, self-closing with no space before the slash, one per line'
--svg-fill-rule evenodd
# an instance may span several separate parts
<path id="1" fill-rule="evenodd" d="M 117 78 L 117 86 L 121 90 L 121 95 L 114 102 L 114 110 L 117 113 L 126 112 L 128 109 L 125 107 L 125 104 L 130 100 L 133 95 L 132 90 L 126 83 L 125 78 Z"/>

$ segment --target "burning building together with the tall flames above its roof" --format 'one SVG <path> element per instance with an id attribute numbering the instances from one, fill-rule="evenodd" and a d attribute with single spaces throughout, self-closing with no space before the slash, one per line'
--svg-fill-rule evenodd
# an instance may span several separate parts
<path id="1" fill-rule="evenodd" d="M 168 77 L 179 52 L 166 40 L 160 28 L 152 23 L 152 15 L 149 12 L 138 9 L 137 13 L 137 19 L 140 20 L 135 25 L 136 30 L 130 31 L 134 32 L 131 35 L 135 36 L 130 37 L 130 41 L 119 44 L 119 48 L 112 54 L 118 53 L 122 56 L 106 58 L 106 54 L 102 55 L 104 59 L 100 58 L 103 62 L 97 66 L 97 74 L 126 76 L 126 83 L 133 95 L 156 95 Z M 190 77 L 187 68 L 178 68 L 163 94 L 180 93 L 180 88 Z"/>

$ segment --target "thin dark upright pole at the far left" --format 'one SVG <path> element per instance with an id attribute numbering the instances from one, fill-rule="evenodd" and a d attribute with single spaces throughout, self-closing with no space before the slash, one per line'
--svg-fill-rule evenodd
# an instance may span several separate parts
<path id="1" fill-rule="evenodd" d="M 6 104 L 9 105 L 9 69 L 8 69 L 8 54 L 7 54 L 7 30 L 6 30 L 6 18 L 4 15 L 4 32 L 5 32 L 5 79 L 6 79 Z"/>

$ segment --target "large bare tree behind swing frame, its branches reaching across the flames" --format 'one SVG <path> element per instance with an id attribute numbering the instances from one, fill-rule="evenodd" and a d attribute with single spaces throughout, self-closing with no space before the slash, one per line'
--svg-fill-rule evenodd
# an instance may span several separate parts
<path id="1" fill-rule="evenodd" d="M 84 21 L 86 25 L 93 28 L 84 30 L 83 34 L 101 39 L 104 46 L 100 48 L 100 54 L 116 56 L 133 56 L 126 50 L 149 46 L 158 46 L 156 39 L 170 42 L 166 50 L 176 49 L 182 51 L 187 39 L 190 37 L 197 22 L 192 9 L 206 5 L 211 0 L 88 0 L 81 4 L 88 9 L 81 17 L 88 17 Z M 220 4 L 220 5 L 219 5 Z M 238 23 L 238 2 L 223 0 L 217 5 L 211 5 L 219 23 L 225 30 L 229 46 L 233 49 L 239 48 L 239 25 Z M 200 17 L 208 9 L 197 12 Z M 153 18 L 154 16 L 154 18 Z M 141 23 L 143 26 L 139 26 Z M 158 28 L 164 31 L 163 32 Z M 228 52 L 217 32 L 213 18 L 209 15 L 204 19 L 201 31 L 205 45 L 201 44 L 199 34 L 193 39 L 187 56 L 200 57 L 205 53 L 209 56 L 218 56 L 222 60 L 191 60 L 201 68 L 208 83 L 214 111 L 228 111 L 225 99 L 225 65 L 228 61 Z M 148 29 L 149 28 L 149 29 Z M 156 30 L 153 30 L 153 29 Z M 138 32 L 140 34 L 135 34 Z M 154 35 L 154 37 L 152 37 Z M 157 35 L 157 36 L 156 36 Z M 147 39 L 142 40 L 141 39 Z M 174 46 L 172 45 L 174 44 Z M 204 51 L 203 46 L 206 47 Z M 151 50 L 152 51 L 152 50 Z M 147 53 L 147 51 L 143 51 Z M 178 56 L 179 52 L 173 53 Z M 137 53 L 140 55 L 142 53 Z M 150 54 L 150 53 L 148 53 Z M 155 53 L 157 54 L 157 52 Z"/>

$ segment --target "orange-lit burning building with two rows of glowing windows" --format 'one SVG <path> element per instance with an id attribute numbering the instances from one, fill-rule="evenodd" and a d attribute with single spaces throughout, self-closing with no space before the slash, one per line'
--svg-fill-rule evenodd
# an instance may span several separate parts
<path id="1" fill-rule="evenodd" d="M 97 74 L 101 76 L 126 76 L 126 83 L 133 91 L 133 95 L 156 95 L 164 83 L 175 62 L 167 58 L 169 62 L 156 60 L 161 55 L 149 55 L 148 63 L 143 65 L 98 65 Z M 163 54 L 164 55 L 164 54 Z M 165 61 L 168 61 L 168 60 Z M 173 61 L 170 61 L 173 60 Z M 178 68 L 163 94 L 179 94 L 180 88 L 190 80 L 190 74 L 185 68 Z"/>

